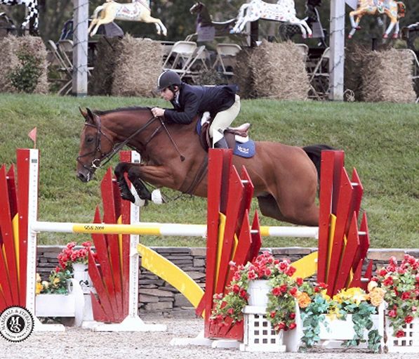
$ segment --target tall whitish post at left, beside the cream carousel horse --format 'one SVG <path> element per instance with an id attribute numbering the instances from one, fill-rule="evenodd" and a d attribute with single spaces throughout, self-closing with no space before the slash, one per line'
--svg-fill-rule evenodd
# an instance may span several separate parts
<path id="1" fill-rule="evenodd" d="M 73 89 L 74 96 L 87 96 L 88 0 L 73 0 Z"/>

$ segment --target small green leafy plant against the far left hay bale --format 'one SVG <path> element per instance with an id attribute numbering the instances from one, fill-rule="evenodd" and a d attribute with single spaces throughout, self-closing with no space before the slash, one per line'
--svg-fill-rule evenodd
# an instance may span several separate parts
<path id="1" fill-rule="evenodd" d="M 21 51 L 17 54 L 20 65 L 15 67 L 8 77 L 15 89 L 20 92 L 32 93 L 41 76 L 41 60 L 35 56 Z"/>

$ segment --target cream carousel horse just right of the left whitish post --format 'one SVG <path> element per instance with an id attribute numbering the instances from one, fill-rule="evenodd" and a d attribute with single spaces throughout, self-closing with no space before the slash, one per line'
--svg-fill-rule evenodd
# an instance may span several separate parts
<path id="1" fill-rule="evenodd" d="M 93 36 L 98 31 L 100 25 L 109 24 L 114 20 L 140 21 L 154 23 L 157 34 L 166 36 L 167 29 L 158 18 L 151 16 L 149 0 L 133 0 L 131 3 L 119 4 L 113 0 L 106 0 L 95 8 L 92 15 L 91 25 L 88 27 L 88 33 Z"/>

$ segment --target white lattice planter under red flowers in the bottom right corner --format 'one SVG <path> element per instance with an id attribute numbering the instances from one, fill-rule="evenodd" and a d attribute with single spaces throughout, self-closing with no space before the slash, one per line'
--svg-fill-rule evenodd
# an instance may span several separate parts
<path id="1" fill-rule="evenodd" d="M 385 321 L 385 332 L 387 341 L 385 342 L 385 351 L 390 353 L 419 353 L 419 319 L 406 324 L 403 327 L 404 337 L 394 337 L 393 328 L 390 326 L 390 320 Z"/>

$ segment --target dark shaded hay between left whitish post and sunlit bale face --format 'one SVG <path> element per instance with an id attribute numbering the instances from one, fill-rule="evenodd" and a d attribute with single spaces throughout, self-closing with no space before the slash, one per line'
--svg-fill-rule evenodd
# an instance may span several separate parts
<path id="1" fill-rule="evenodd" d="M 105 39 L 101 37 L 96 45 L 96 61 L 92 77 L 88 83 L 88 93 L 91 95 L 112 94 L 115 64 L 121 53 L 121 40 L 118 37 Z"/>

